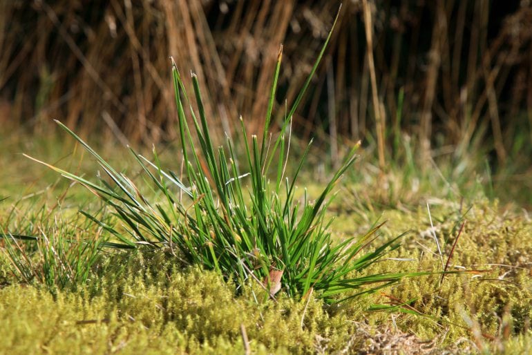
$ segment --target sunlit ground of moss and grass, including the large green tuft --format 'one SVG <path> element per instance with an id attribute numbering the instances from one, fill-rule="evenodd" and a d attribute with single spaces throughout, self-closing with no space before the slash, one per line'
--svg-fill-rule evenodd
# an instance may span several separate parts
<path id="1" fill-rule="evenodd" d="M 398 123 L 384 171 L 372 152 L 359 163 L 358 144 L 323 184 L 308 178 L 310 144 L 291 159 L 292 115 L 325 46 L 272 131 L 279 51 L 260 137 L 241 121 L 239 135 L 214 146 L 198 77 L 189 99 L 174 63 L 172 157 L 130 149 L 124 169 L 120 150 L 106 151 L 111 163 L 58 122 L 99 171 L 37 161 L 99 201 L 57 180 L 21 198 L 0 190 L 5 349 L 377 352 L 377 339 L 399 339 L 414 352 L 432 339 L 442 351 L 529 351 L 531 223 L 497 205 L 491 171 L 477 172 L 481 153 L 434 151 L 419 166 L 417 142 Z M 34 169 L 19 176 L 39 184 Z"/>

